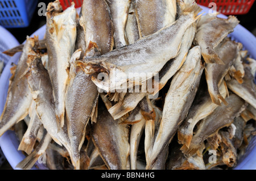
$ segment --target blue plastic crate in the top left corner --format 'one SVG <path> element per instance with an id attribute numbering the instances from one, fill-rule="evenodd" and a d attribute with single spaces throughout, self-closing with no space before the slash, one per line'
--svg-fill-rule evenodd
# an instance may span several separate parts
<path id="1" fill-rule="evenodd" d="M 5 28 L 23 28 L 30 20 L 38 0 L 0 0 L 0 25 Z"/>

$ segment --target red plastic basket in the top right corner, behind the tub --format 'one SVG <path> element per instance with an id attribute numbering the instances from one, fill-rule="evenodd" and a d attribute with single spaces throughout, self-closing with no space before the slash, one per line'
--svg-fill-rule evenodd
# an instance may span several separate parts
<path id="1" fill-rule="evenodd" d="M 225 15 L 242 15 L 249 12 L 255 0 L 196 0 L 202 6 L 209 6 L 210 2 L 216 3 L 217 11 Z"/>

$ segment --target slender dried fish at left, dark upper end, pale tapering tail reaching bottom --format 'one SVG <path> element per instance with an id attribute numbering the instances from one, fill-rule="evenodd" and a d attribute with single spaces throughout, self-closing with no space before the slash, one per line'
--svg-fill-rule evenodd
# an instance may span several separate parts
<path id="1" fill-rule="evenodd" d="M 44 125 L 44 128 L 60 146 L 64 146 L 71 157 L 75 169 L 80 167 L 80 155 L 73 153 L 71 143 L 68 138 L 67 125 L 57 131 L 57 121 L 55 116 L 55 102 L 52 94 L 51 79 L 48 71 L 44 68 L 40 58 L 30 62 L 30 71 L 27 73 L 28 87 L 31 90 L 32 99 L 36 102 L 36 112 Z"/>

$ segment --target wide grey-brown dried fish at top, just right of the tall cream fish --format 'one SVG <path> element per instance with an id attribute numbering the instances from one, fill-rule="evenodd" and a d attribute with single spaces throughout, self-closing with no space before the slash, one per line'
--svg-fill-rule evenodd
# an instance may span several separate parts
<path id="1" fill-rule="evenodd" d="M 119 8 L 116 10 L 119 10 Z M 114 28 L 112 18 L 105 0 L 89 0 L 82 3 L 80 26 L 84 28 L 86 49 L 92 41 L 97 44 L 101 54 L 113 50 Z"/>

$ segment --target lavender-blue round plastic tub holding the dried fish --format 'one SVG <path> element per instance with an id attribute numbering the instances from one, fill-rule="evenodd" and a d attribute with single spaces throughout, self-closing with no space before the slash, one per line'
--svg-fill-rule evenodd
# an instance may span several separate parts
<path id="1" fill-rule="evenodd" d="M 203 11 L 208 12 L 209 9 L 207 7 L 201 6 Z M 220 18 L 227 18 L 225 15 L 218 15 Z M 44 33 L 46 31 L 46 26 L 43 26 L 38 31 L 36 31 L 32 36 L 39 35 L 39 39 L 43 39 Z M 234 32 L 230 34 L 232 39 L 239 41 L 243 44 L 243 48 L 249 51 L 249 54 L 252 58 L 256 58 L 256 37 L 247 31 L 244 27 L 240 24 L 236 28 L 234 28 Z M 9 61 L 10 65 L 11 62 L 17 62 L 19 57 L 15 59 L 11 59 Z M 7 66 L 4 70 L 4 74 L 2 74 L 0 78 L 0 112 L 3 110 L 3 106 L 5 105 L 6 95 L 9 85 L 9 78 L 10 78 L 10 66 Z M 6 156 L 6 159 L 9 161 L 10 165 L 13 169 L 16 169 L 15 166 L 24 159 L 24 155 L 18 151 L 18 139 L 15 136 L 13 131 L 7 131 L 0 137 L 0 146 L 3 150 L 3 153 Z M 256 170 L 256 137 L 254 136 L 253 139 L 250 141 L 249 146 L 246 149 L 245 155 L 238 161 L 234 170 Z M 36 163 L 38 167 L 40 164 Z M 44 168 L 42 166 L 42 168 Z M 35 169 L 35 168 L 33 168 Z"/>

